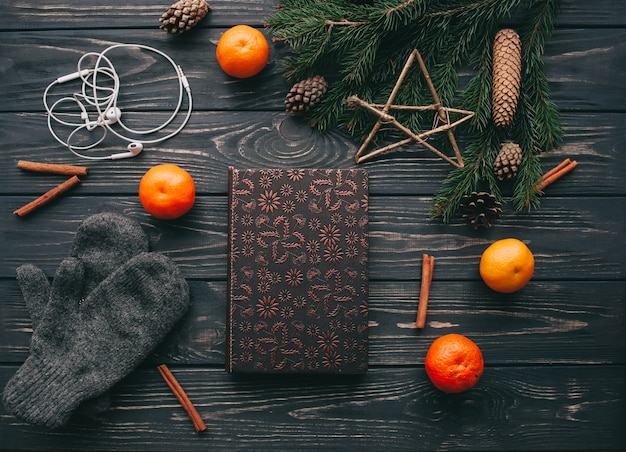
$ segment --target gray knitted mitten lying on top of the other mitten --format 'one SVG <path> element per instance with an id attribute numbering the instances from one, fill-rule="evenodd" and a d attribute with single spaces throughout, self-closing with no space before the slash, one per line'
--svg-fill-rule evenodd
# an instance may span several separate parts
<path id="1" fill-rule="evenodd" d="M 133 257 L 79 299 L 85 276 L 81 260 L 61 263 L 30 356 L 4 389 L 7 411 L 31 424 L 64 425 L 140 364 L 189 305 L 180 270 L 159 253 Z"/>

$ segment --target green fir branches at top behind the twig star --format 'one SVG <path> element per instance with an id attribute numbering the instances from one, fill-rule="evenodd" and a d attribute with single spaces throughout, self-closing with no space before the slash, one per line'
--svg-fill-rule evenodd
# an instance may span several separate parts
<path id="1" fill-rule="evenodd" d="M 465 166 L 453 169 L 434 197 L 432 216 L 449 222 L 462 196 L 472 191 L 489 190 L 503 202 L 493 162 L 505 140 L 517 142 L 524 151 L 512 194 L 516 209 L 539 205 L 538 156 L 558 146 L 563 135 L 541 60 L 559 4 L 559 0 L 371 0 L 363 4 L 281 0 L 266 24 L 274 39 L 292 50 L 284 60 L 288 81 L 322 74 L 330 82 L 324 98 L 309 113 L 311 124 L 320 130 L 345 128 L 361 140 L 376 118 L 348 107 L 345 99 L 357 95 L 367 102 L 384 103 L 409 54 L 416 48 L 420 51 L 443 104 L 452 106 L 458 100 L 460 108 L 476 113 L 466 127 Z M 511 23 L 522 40 L 522 86 L 515 120 L 500 130 L 491 120 L 492 47 L 497 30 Z M 475 75 L 460 88 L 458 72 L 463 67 L 472 68 Z M 412 70 L 395 103 L 431 102 L 419 69 Z M 394 116 L 414 131 L 420 131 L 426 120 L 416 112 L 394 111 Z M 389 138 L 382 132 L 378 135 L 378 140 Z"/>

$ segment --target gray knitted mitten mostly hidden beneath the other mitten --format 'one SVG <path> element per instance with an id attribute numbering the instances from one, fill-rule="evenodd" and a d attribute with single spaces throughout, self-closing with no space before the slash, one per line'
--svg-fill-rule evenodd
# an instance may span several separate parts
<path id="1" fill-rule="evenodd" d="M 85 278 L 77 300 L 85 298 L 100 282 L 133 256 L 148 251 L 149 241 L 139 223 L 116 213 L 99 213 L 86 218 L 76 231 L 71 258 L 82 261 Z M 34 265 L 17 268 L 17 282 L 26 307 L 37 329 L 50 297 L 50 284 L 44 272 Z M 72 301 L 75 306 L 76 301 Z M 85 414 L 101 413 L 111 405 L 109 394 L 81 404 Z"/>

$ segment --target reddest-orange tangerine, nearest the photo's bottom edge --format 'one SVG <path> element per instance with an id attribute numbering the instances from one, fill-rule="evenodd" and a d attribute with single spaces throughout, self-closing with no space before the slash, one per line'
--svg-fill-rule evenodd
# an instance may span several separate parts
<path id="1" fill-rule="evenodd" d="M 437 389 L 456 394 L 478 383 L 485 362 L 474 341 L 461 334 L 446 334 L 430 345 L 424 366 Z"/>

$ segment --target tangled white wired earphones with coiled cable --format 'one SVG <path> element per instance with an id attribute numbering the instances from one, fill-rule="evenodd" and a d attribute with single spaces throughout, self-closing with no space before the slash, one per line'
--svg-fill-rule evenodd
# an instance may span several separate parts
<path id="1" fill-rule="evenodd" d="M 136 130 L 126 126 L 122 122 L 122 111 L 117 106 L 117 100 L 120 91 L 120 80 L 117 72 L 115 71 L 115 68 L 113 67 L 113 63 L 106 56 L 108 52 L 111 52 L 112 50 L 118 48 L 135 48 L 156 53 L 163 57 L 170 65 L 172 65 L 172 67 L 176 71 L 176 77 L 178 79 L 179 87 L 178 102 L 170 117 L 159 126 L 149 130 Z M 88 58 L 95 58 L 95 63 L 92 67 L 83 68 L 83 66 L 85 65 L 85 60 Z M 106 78 L 107 83 L 99 83 L 98 77 Z M 60 99 L 56 100 L 52 105 L 49 105 L 50 91 L 54 86 L 78 79 L 81 80 L 81 89 L 79 92 L 75 92 L 71 96 L 61 97 Z M 185 117 L 183 118 L 182 123 L 177 128 L 167 133 L 164 129 L 168 127 L 175 118 L 178 117 L 183 104 L 185 93 L 188 100 L 187 112 L 185 114 Z M 43 103 L 48 116 L 48 129 L 50 130 L 52 136 L 59 143 L 66 146 L 73 154 L 89 160 L 118 160 L 135 157 L 141 153 L 145 144 L 161 143 L 178 134 L 187 125 L 192 111 L 191 89 L 189 88 L 189 82 L 187 80 L 187 77 L 185 77 L 185 74 L 183 74 L 181 67 L 178 66 L 168 55 L 161 52 L 160 50 L 140 44 L 117 44 L 106 48 L 100 53 L 89 52 L 84 54 L 78 60 L 78 71 L 58 77 L 56 80 L 48 85 L 43 94 Z M 72 117 L 71 114 L 66 113 L 65 111 L 63 117 L 60 116 L 60 113 L 57 113 L 57 111 L 59 110 L 59 105 L 63 103 L 72 103 L 79 108 L 80 113 L 76 113 L 75 116 L 80 117 L 80 122 L 74 122 L 73 120 L 65 119 L 68 117 Z M 92 110 L 91 117 L 88 109 Z M 95 119 L 92 119 L 93 115 L 95 115 Z M 53 124 L 56 124 L 57 127 L 61 125 L 72 128 L 71 132 L 68 134 L 65 140 L 59 137 L 59 135 L 55 132 Z M 114 125 L 116 126 L 116 128 L 113 128 Z M 73 140 L 75 141 L 75 136 L 77 133 L 84 130 L 86 130 L 87 132 L 93 132 L 96 129 L 101 129 L 102 134 L 95 141 L 87 145 L 77 145 L 73 143 Z M 121 129 L 123 132 L 117 129 Z M 93 149 L 94 147 L 102 143 L 102 141 L 107 136 L 107 133 L 109 132 L 130 143 L 128 145 L 127 152 L 112 154 L 108 156 L 94 156 L 82 153 L 89 149 Z M 157 132 L 161 132 L 161 135 L 154 139 L 146 140 L 136 138 L 136 136 L 146 136 Z"/>

